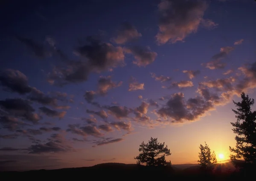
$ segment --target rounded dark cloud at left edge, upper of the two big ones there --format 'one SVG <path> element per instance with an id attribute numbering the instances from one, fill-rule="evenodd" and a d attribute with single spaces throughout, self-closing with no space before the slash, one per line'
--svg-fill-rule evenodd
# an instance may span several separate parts
<path id="1" fill-rule="evenodd" d="M 28 78 L 22 72 L 14 69 L 6 69 L 0 72 L 0 84 L 3 90 L 17 92 L 21 95 L 31 92 L 28 85 Z"/>

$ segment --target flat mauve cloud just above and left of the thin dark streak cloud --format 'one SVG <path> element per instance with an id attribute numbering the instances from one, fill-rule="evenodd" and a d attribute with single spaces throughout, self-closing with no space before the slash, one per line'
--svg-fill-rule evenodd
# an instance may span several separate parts
<path id="1" fill-rule="evenodd" d="M 77 135 L 81 136 L 95 136 L 95 137 L 101 137 L 103 134 L 97 129 L 96 126 L 93 125 L 87 125 L 87 126 L 79 126 L 77 124 L 69 124 L 67 132 L 72 132 Z"/>

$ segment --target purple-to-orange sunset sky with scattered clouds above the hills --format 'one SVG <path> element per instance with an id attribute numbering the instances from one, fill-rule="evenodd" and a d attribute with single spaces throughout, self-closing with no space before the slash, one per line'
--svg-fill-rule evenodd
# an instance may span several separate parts
<path id="1" fill-rule="evenodd" d="M 135 164 L 151 137 L 172 164 L 235 146 L 255 98 L 254 0 L 0 4 L 0 170 Z M 223 154 L 224 158 L 218 155 Z"/>

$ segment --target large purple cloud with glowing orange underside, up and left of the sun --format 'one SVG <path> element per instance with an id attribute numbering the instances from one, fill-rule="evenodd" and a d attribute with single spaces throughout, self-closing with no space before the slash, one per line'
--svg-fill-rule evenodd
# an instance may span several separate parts
<path id="1" fill-rule="evenodd" d="M 166 106 L 157 110 L 157 114 L 171 122 L 198 121 L 210 110 L 214 110 L 211 101 L 204 101 L 201 97 L 185 101 L 183 93 L 176 93 Z"/>

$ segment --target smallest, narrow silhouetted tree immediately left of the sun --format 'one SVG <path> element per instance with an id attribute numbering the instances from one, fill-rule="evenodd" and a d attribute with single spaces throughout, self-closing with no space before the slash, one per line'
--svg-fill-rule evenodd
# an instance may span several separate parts
<path id="1" fill-rule="evenodd" d="M 200 144 L 200 152 L 199 152 L 199 160 L 198 164 L 200 165 L 200 169 L 208 172 L 212 171 L 217 164 L 216 155 L 215 152 L 211 152 L 211 149 L 209 148 L 209 145 L 205 143 L 205 146 Z"/>

